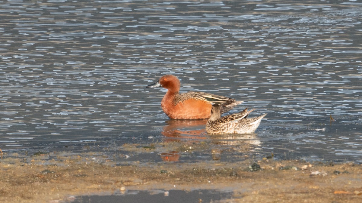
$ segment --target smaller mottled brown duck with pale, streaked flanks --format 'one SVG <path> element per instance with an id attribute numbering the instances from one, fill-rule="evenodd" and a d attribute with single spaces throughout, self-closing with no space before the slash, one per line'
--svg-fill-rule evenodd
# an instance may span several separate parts
<path id="1" fill-rule="evenodd" d="M 261 119 L 266 116 L 266 114 L 264 114 L 254 118 L 247 118 L 249 113 L 253 112 L 254 109 L 248 111 L 248 108 L 245 108 L 239 113 L 221 117 L 221 109 L 218 104 L 212 105 L 211 116 L 205 127 L 208 134 L 254 133 L 260 125 Z"/>

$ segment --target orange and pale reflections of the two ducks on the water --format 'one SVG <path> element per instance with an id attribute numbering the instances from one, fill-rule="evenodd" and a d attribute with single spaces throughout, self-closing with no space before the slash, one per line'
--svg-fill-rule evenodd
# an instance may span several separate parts
<path id="1" fill-rule="evenodd" d="M 211 155 L 212 160 L 223 160 L 221 157 L 225 153 L 236 156 L 243 155 L 241 157 L 243 159 L 261 150 L 262 142 L 256 133 L 209 135 L 205 130 L 206 122 L 207 120 L 170 119 L 165 123 L 161 131 L 161 134 L 165 136 L 163 140 L 165 142 L 181 143 L 181 148 L 186 150 L 185 152 L 195 150 L 192 144 L 207 144 L 204 148 L 201 147 L 201 150 L 207 156 Z M 161 152 L 160 157 L 163 161 L 179 161 L 180 157 L 187 159 L 189 155 L 183 154 L 183 152 Z M 240 159 L 240 157 L 237 159 Z"/>

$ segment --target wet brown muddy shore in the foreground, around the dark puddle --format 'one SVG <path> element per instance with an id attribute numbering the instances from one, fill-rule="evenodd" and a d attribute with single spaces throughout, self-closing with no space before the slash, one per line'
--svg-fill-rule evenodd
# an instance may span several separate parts
<path id="1" fill-rule="evenodd" d="M 53 153 L 53 152 L 51 152 Z M 51 154 L 50 153 L 50 154 Z M 55 153 L 55 152 L 54 152 Z M 71 202 L 72 196 L 127 190 L 227 189 L 221 202 L 361 202 L 362 167 L 300 160 L 204 161 L 119 165 L 92 153 L 56 152 L 0 159 L 0 201 Z"/>

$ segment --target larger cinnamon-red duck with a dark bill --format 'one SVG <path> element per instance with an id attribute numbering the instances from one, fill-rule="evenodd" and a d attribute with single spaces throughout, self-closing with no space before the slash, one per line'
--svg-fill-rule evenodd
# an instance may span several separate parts
<path id="1" fill-rule="evenodd" d="M 180 94 L 180 80 L 174 75 L 163 75 L 147 87 L 167 89 L 161 107 L 166 115 L 173 119 L 206 119 L 210 118 L 212 104 L 221 104 L 220 111 L 224 113 L 241 103 L 235 99 L 205 92 L 191 91 Z"/>

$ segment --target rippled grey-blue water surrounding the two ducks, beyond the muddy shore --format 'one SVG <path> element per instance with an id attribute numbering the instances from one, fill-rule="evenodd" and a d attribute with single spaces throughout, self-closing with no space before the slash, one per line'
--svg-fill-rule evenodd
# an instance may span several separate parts
<path id="1" fill-rule="evenodd" d="M 0 11 L 3 151 L 206 143 L 175 159 L 362 163 L 358 1 L 3 1 Z M 162 112 L 165 90 L 145 87 L 163 74 L 181 92 L 244 101 L 231 113 L 268 115 L 249 137 L 209 136 L 204 122 Z"/>

